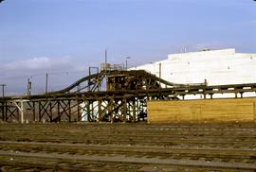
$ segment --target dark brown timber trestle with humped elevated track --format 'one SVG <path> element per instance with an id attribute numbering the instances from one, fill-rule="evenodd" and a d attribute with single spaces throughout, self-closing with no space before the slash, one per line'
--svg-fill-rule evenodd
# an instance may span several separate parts
<path id="1" fill-rule="evenodd" d="M 146 120 L 147 100 L 184 99 L 186 95 L 256 92 L 256 83 L 208 86 L 184 85 L 143 70 L 104 68 L 57 92 L 0 98 L 0 120 L 38 122 L 137 122 Z"/>

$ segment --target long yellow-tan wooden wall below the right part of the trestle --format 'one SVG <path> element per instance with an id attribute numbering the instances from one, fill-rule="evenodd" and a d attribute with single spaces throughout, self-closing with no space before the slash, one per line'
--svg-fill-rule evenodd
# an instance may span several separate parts
<path id="1" fill-rule="evenodd" d="M 148 122 L 256 122 L 256 98 L 149 101 Z"/>

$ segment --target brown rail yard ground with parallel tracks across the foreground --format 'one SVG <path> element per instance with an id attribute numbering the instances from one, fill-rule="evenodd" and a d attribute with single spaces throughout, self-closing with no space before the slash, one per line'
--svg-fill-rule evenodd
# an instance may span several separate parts
<path id="1" fill-rule="evenodd" d="M 254 124 L 0 125 L 2 171 L 255 171 Z"/>

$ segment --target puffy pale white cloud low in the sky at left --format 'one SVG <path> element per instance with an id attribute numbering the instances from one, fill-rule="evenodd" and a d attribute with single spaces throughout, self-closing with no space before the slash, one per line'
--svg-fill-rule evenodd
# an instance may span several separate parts
<path id="1" fill-rule="evenodd" d="M 30 60 L 16 60 L 3 65 L 5 70 L 44 70 L 72 66 L 71 58 L 50 59 L 47 57 L 32 58 Z"/>

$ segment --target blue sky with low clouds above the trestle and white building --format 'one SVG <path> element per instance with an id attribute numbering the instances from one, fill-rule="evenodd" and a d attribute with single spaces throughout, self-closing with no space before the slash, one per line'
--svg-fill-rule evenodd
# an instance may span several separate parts
<path id="1" fill-rule="evenodd" d="M 0 4 L 0 82 L 24 93 L 51 90 L 100 66 L 164 60 L 183 47 L 256 52 L 252 0 L 5 0 Z M 68 76 L 68 77 L 67 77 Z M 39 78 L 40 77 L 40 78 Z M 41 78 L 42 77 L 42 78 Z M 57 79 L 58 78 L 58 79 Z M 61 79 L 62 78 L 62 79 Z M 13 84 L 14 83 L 14 84 Z"/>

